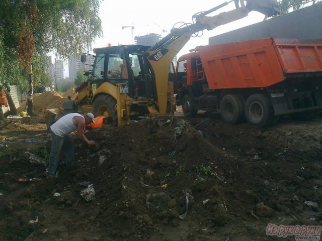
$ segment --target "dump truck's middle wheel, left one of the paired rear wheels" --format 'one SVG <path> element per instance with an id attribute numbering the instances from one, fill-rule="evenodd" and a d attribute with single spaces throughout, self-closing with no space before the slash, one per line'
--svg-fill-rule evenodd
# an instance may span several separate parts
<path id="1" fill-rule="evenodd" d="M 243 120 L 244 104 L 243 100 L 235 94 L 227 94 L 220 101 L 220 116 L 222 120 L 229 124 L 237 124 Z"/>

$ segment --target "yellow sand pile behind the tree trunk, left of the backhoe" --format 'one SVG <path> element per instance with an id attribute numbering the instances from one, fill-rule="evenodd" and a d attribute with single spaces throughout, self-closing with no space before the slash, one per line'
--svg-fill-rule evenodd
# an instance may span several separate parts
<path id="1" fill-rule="evenodd" d="M 33 106 L 34 106 L 34 113 L 40 114 L 42 108 L 53 108 L 53 107 L 61 107 L 63 101 L 65 101 L 66 98 L 61 96 L 56 91 L 48 91 L 44 93 L 35 93 L 33 95 Z M 24 101 L 19 108 L 17 108 L 17 111 L 24 111 L 26 108 L 27 101 Z"/>

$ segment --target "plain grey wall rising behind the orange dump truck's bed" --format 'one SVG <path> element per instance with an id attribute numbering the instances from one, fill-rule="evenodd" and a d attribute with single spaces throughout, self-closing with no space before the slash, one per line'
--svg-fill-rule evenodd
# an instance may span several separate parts
<path id="1" fill-rule="evenodd" d="M 267 37 L 322 39 L 322 3 L 209 38 L 209 45 Z"/>

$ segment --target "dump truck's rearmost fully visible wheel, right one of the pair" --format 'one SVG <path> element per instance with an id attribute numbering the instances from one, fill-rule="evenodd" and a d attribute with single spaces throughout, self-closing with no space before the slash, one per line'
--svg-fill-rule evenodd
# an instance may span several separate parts
<path id="1" fill-rule="evenodd" d="M 270 99 L 264 94 L 253 94 L 245 102 L 245 116 L 249 123 L 265 127 L 274 119 L 274 108 Z"/>

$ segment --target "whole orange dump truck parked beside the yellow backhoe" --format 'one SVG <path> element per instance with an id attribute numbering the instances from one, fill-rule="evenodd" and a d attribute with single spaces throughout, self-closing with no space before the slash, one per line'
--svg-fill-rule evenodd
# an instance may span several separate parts
<path id="1" fill-rule="evenodd" d="M 259 39 L 201 46 L 178 59 L 178 105 L 188 117 L 268 126 L 282 115 L 307 120 L 322 109 L 322 40 Z"/>

